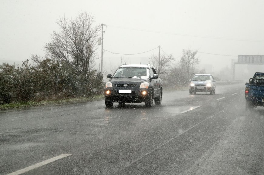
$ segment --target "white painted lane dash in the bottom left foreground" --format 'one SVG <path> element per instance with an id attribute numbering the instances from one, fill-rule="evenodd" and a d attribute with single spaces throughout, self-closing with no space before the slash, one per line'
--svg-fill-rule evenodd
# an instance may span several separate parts
<path id="1" fill-rule="evenodd" d="M 21 170 L 17 170 L 17 171 L 15 171 L 15 172 L 13 172 L 13 173 L 9 173 L 9 174 L 6 174 L 6 175 L 19 175 L 19 174 L 22 174 L 22 173 L 28 172 L 28 171 L 30 171 L 30 170 L 33 170 L 33 169 L 35 169 L 35 168 L 41 167 L 41 166 L 43 166 L 43 165 L 46 165 L 46 164 L 48 164 L 48 163 L 54 162 L 54 161 L 56 161 L 56 160 L 62 159 L 62 158 L 64 158 L 64 157 L 67 157 L 67 156 L 70 156 L 70 155 L 71 155 L 71 154 L 62 154 L 62 155 L 59 155 L 59 156 L 56 156 L 56 157 L 52 157 L 52 158 L 50 158 L 50 159 L 48 159 L 48 160 L 44 160 L 44 161 L 42 161 L 42 162 L 36 163 L 36 164 L 34 164 L 34 165 L 31 165 L 31 166 L 29 166 L 29 167 L 26 167 L 26 168 L 21 169 Z"/>

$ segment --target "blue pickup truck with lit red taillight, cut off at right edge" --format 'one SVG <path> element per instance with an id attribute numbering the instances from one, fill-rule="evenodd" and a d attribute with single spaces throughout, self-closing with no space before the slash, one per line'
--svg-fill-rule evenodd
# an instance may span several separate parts
<path id="1" fill-rule="evenodd" d="M 256 72 L 245 85 L 246 110 L 264 106 L 264 73 Z"/>

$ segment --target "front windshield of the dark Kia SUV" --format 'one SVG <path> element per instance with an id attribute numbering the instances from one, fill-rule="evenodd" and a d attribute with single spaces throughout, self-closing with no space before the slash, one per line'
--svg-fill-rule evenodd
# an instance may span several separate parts
<path id="1" fill-rule="evenodd" d="M 148 79 L 150 71 L 142 67 L 120 67 L 115 72 L 113 78 L 142 78 Z"/>

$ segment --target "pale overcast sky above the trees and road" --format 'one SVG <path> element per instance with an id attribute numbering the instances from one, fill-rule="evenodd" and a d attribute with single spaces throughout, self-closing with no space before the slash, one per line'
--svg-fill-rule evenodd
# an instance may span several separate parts
<path id="1" fill-rule="evenodd" d="M 237 55 L 264 55 L 262 0 L 1 0 L 0 63 L 44 56 L 43 46 L 59 30 L 56 20 L 75 18 L 80 11 L 94 15 L 95 24 L 107 25 L 103 47 L 111 52 L 134 54 L 161 45 L 161 53 L 179 60 L 182 49 L 198 50 L 201 66 L 212 65 L 215 71 L 230 68 Z M 139 55 L 105 51 L 103 64 L 116 69 L 121 57 L 148 63 L 153 54 L 158 49 Z M 99 69 L 100 59 L 96 63 Z"/>

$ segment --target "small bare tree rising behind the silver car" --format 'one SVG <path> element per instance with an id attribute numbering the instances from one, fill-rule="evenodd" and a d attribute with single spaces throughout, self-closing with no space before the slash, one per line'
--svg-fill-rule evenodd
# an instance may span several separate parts
<path id="1" fill-rule="evenodd" d="M 181 67 L 186 70 L 188 77 L 190 76 L 190 71 L 193 71 L 200 62 L 198 58 L 195 58 L 196 54 L 197 50 L 184 50 L 183 57 L 181 57 Z"/>

